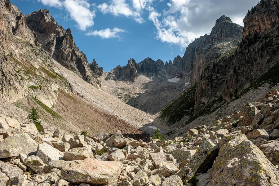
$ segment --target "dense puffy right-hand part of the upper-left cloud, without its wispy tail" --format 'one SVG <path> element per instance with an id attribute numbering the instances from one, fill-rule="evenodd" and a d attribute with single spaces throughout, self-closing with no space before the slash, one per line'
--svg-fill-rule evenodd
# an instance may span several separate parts
<path id="1" fill-rule="evenodd" d="M 71 18 L 77 22 L 81 30 L 86 30 L 94 24 L 95 11 L 90 10 L 90 4 L 85 0 L 65 0 L 64 6 Z"/>

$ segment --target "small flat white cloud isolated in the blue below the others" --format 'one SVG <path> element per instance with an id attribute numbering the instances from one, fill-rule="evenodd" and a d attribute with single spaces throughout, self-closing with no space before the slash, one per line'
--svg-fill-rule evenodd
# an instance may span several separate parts
<path id="1" fill-rule="evenodd" d="M 87 36 L 100 36 L 103 39 L 108 39 L 108 38 L 120 38 L 118 33 L 123 33 L 127 32 L 124 29 L 119 29 L 119 28 L 113 28 L 112 30 L 107 28 L 104 30 L 94 30 L 91 32 L 86 33 Z"/>

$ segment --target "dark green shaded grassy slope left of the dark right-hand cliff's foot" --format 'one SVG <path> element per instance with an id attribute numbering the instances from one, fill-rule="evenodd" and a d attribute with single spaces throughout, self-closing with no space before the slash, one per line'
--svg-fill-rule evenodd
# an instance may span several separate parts
<path id="1" fill-rule="evenodd" d="M 182 93 L 182 95 L 174 100 L 171 104 L 166 106 L 162 111 L 160 117 L 167 119 L 169 125 L 173 125 L 180 121 L 185 115 L 191 116 L 194 114 L 194 95 L 196 92 L 196 86 L 192 86 L 188 91 Z"/>

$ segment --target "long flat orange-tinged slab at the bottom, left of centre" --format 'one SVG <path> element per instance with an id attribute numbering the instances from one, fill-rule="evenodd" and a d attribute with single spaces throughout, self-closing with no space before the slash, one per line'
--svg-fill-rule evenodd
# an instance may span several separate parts
<path id="1" fill-rule="evenodd" d="M 121 173 L 120 162 L 104 162 L 92 158 L 75 160 L 61 170 L 62 179 L 70 183 L 113 185 Z"/>

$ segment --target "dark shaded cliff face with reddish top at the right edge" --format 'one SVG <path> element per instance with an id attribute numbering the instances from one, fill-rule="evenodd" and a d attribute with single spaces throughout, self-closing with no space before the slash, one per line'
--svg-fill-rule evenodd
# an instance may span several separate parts
<path id="1" fill-rule="evenodd" d="M 215 60 L 197 83 L 195 113 L 216 98 L 239 94 L 279 61 L 278 15 L 278 0 L 261 1 L 246 15 L 236 53 Z"/>

